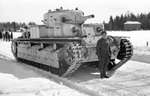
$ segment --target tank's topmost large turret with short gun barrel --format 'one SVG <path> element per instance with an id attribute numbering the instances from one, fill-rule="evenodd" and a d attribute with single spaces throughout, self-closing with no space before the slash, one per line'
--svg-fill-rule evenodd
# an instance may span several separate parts
<path id="1" fill-rule="evenodd" d="M 94 18 L 94 15 L 84 16 L 80 10 L 49 10 L 44 14 L 44 24 L 53 27 L 56 24 L 83 24 L 87 19 Z"/>

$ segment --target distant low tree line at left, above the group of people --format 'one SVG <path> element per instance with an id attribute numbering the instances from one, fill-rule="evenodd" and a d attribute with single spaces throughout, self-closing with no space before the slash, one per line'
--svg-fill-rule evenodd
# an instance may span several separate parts
<path id="1" fill-rule="evenodd" d="M 16 32 L 17 30 L 20 30 L 21 28 L 25 28 L 29 25 L 36 25 L 34 22 L 26 23 L 18 23 L 18 22 L 0 22 L 0 31 L 12 31 Z"/>

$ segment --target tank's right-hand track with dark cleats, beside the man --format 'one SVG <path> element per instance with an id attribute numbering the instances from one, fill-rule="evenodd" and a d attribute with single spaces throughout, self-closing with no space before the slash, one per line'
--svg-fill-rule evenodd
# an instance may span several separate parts
<path id="1" fill-rule="evenodd" d="M 131 59 L 133 55 L 133 45 L 127 39 L 122 39 L 120 43 L 120 51 L 117 59 L 120 60 L 110 71 L 115 71 Z"/>

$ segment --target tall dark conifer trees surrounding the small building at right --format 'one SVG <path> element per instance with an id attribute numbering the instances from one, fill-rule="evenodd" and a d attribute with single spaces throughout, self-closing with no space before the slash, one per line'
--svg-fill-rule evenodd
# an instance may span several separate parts
<path id="1" fill-rule="evenodd" d="M 124 23 L 126 21 L 138 21 L 141 23 L 141 29 L 150 30 L 150 12 L 148 14 L 141 13 L 134 15 L 131 12 L 126 12 L 125 15 L 121 14 L 113 18 L 110 16 L 109 23 L 105 25 L 106 30 L 124 30 Z"/>

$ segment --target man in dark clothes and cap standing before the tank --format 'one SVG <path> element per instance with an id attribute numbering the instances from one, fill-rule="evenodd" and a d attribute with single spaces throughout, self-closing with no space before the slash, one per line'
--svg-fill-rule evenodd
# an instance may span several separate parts
<path id="1" fill-rule="evenodd" d="M 107 32 L 101 32 L 102 38 L 97 41 L 96 54 L 99 59 L 100 78 L 109 78 L 106 75 L 107 65 L 110 61 L 111 51 L 107 41 Z"/>

